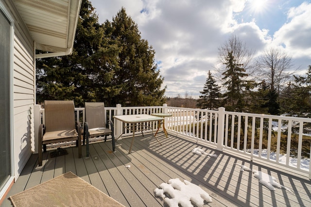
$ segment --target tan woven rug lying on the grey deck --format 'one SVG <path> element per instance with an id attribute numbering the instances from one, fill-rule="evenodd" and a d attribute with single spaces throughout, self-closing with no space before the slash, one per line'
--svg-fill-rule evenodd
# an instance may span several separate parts
<path id="1" fill-rule="evenodd" d="M 15 207 L 124 207 L 73 173 L 10 196 Z"/>

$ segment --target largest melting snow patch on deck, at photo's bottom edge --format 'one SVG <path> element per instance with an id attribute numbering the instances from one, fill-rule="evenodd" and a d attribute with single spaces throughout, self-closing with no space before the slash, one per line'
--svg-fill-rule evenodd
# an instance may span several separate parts
<path id="1" fill-rule="evenodd" d="M 182 182 L 179 178 L 170 179 L 168 183 L 162 183 L 155 189 L 155 196 L 162 197 L 169 207 L 203 207 L 204 201 L 212 202 L 212 198 L 206 191 L 187 180 Z"/>

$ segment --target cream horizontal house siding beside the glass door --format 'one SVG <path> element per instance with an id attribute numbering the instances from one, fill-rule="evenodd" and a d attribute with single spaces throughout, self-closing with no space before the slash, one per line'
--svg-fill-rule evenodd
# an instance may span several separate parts
<path id="1" fill-rule="evenodd" d="M 14 19 L 13 149 L 14 177 L 18 178 L 34 146 L 35 44 L 11 1 L 2 1 Z"/>

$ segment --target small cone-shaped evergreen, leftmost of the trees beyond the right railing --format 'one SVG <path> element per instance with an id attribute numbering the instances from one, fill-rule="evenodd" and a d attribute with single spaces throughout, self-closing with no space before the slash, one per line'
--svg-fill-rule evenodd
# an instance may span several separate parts
<path id="1" fill-rule="evenodd" d="M 197 106 L 201 109 L 212 110 L 220 107 L 220 86 L 216 84 L 216 80 L 210 71 L 208 71 L 207 80 L 200 94 L 202 94 L 202 96 L 200 96 Z"/>

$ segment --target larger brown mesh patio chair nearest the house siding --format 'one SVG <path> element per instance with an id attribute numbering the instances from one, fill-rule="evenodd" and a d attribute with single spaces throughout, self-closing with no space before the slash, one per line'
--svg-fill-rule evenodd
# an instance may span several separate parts
<path id="1" fill-rule="evenodd" d="M 75 122 L 73 101 L 44 101 L 45 124 L 39 126 L 39 166 L 42 166 L 42 145 L 76 140 L 79 158 L 82 157 L 81 124 Z"/>

